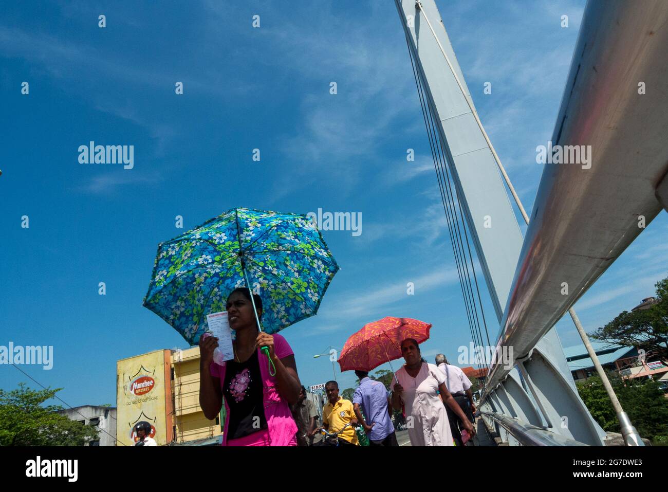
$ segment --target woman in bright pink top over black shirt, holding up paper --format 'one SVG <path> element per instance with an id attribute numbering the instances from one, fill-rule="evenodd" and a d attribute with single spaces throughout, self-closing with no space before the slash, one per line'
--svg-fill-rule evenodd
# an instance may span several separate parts
<path id="1" fill-rule="evenodd" d="M 253 294 L 258 317 L 262 299 Z M 200 338 L 200 406 L 213 420 L 225 405 L 223 446 L 296 446 L 297 424 L 290 405 L 299 398 L 301 382 L 295 356 L 285 338 L 261 332 L 255 321 L 251 292 L 234 289 L 227 298 L 234 359 L 213 362 L 214 337 Z M 269 348 L 269 358 L 261 348 Z M 275 375 L 270 371 L 270 359 Z"/>

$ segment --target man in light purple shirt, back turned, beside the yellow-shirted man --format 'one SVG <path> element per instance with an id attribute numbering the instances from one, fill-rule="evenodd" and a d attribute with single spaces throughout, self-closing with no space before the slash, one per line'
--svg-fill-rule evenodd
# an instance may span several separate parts
<path id="1" fill-rule="evenodd" d="M 385 385 L 369 378 L 368 372 L 355 371 L 355 375 L 359 378 L 359 387 L 353 394 L 353 410 L 369 437 L 369 445 L 398 446 Z"/>

